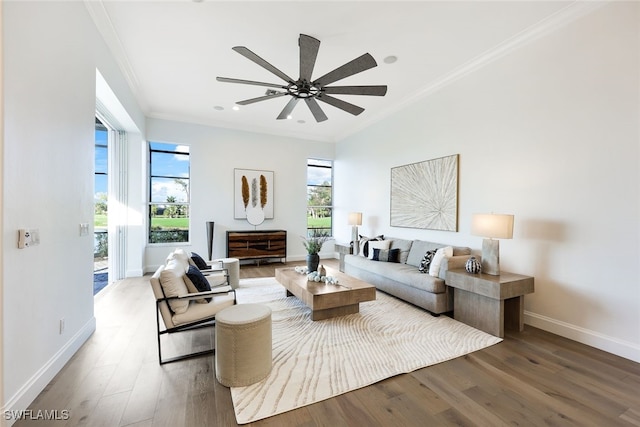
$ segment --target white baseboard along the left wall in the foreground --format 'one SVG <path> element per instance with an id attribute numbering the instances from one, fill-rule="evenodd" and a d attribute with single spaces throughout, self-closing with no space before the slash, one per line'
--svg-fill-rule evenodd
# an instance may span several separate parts
<path id="1" fill-rule="evenodd" d="M 26 410 L 31 402 L 44 390 L 53 377 L 76 354 L 82 344 L 96 330 L 96 318 L 91 319 L 82 327 L 67 343 L 47 361 L 13 396 L 11 396 L 2 408 L 2 419 L 7 426 L 13 425 L 17 420 L 6 420 L 6 414 L 17 414 Z M 54 408 L 51 408 L 54 409 Z"/>

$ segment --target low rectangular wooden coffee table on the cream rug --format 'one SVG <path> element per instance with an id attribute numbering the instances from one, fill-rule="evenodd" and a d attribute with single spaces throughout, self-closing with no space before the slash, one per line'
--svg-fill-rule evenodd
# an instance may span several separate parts
<path id="1" fill-rule="evenodd" d="M 333 268 L 326 270 L 328 276 L 338 279 L 337 285 L 310 282 L 306 274 L 293 268 L 277 268 L 276 280 L 287 289 L 287 296 L 295 295 L 311 308 L 311 320 L 358 313 L 361 302 L 376 299 L 375 286 Z"/>

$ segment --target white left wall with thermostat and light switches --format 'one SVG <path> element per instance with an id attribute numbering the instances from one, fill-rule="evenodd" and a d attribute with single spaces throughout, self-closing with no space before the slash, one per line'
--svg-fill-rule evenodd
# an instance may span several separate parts
<path id="1" fill-rule="evenodd" d="M 19 410 L 95 329 L 93 237 L 79 224 L 93 223 L 97 67 L 144 122 L 83 2 L 3 6 L 2 409 Z M 40 245 L 18 249 L 19 228 Z"/>

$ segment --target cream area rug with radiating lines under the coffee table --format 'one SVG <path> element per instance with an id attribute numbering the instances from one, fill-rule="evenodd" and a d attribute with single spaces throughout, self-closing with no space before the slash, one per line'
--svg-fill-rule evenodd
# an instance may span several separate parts
<path id="1" fill-rule="evenodd" d="M 502 341 L 447 316 L 377 292 L 360 313 L 311 321 L 310 309 L 275 278 L 243 279 L 239 304 L 272 310 L 273 368 L 264 380 L 231 387 L 238 424 L 247 424 L 454 359 Z"/>

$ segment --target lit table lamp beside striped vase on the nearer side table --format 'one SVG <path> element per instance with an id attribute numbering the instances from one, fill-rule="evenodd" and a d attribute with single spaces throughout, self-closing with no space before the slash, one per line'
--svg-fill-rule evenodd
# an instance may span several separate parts
<path id="1" fill-rule="evenodd" d="M 471 234 L 488 237 L 482 241 L 482 272 L 500 275 L 500 241 L 513 238 L 513 215 L 473 214 Z"/>

